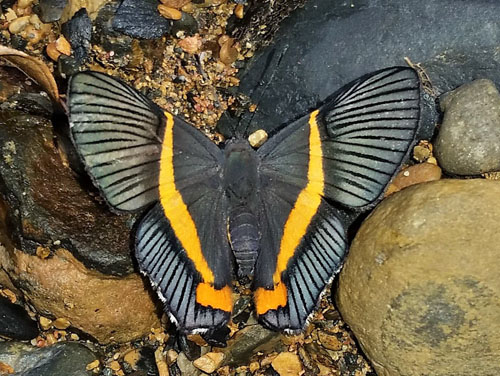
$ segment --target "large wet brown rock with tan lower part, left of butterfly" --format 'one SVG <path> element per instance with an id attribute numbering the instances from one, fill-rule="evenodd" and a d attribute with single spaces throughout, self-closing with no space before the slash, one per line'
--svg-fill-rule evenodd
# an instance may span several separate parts
<path id="1" fill-rule="evenodd" d="M 159 309 L 134 272 L 133 218 L 111 213 L 68 166 L 50 102 L 32 86 L 0 67 L 0 287 L 101 343 L 146 336 Z"/>

